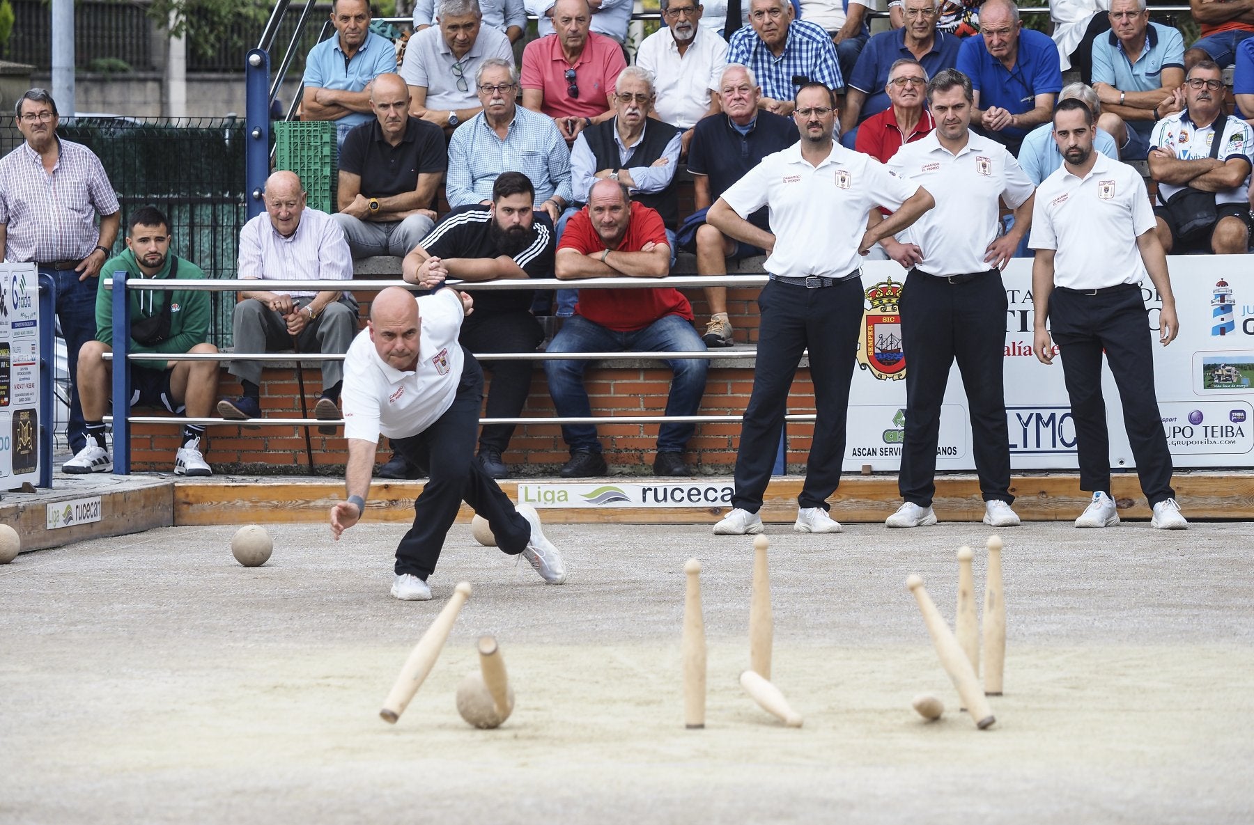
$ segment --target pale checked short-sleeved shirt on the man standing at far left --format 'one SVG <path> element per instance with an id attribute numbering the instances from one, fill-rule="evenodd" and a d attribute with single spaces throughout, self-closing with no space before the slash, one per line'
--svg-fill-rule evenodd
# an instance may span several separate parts
<path id="1" fill-rule="evenodd" d="M 100 242 L 97 213 L 108 216 L 122 208 L 100 159 L 79 143 L 58 144 L 51 174 L 29 143 L 0 159 L 5 261 L 82 261 Z"/>

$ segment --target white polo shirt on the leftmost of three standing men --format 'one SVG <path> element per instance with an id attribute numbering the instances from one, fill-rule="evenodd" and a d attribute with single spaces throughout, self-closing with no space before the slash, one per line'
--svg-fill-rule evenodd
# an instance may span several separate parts
<path id="1" fill-rule="evenodd" d="M 775 250 L 765 268 L 771 275 L 843 278 L 861 266 L 858 244 L 867 213 L 875 207 L 899 209 L 918 189 L 875 158 L 839 143 L 813 167 L 796 143 L 762 158 L 722 199 L 742 218 L 770 206 Z"/>

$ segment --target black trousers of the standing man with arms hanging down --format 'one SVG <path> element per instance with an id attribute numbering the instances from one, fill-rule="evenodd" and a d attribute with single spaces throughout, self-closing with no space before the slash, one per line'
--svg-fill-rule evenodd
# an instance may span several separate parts
<path id="1" fill-rule="evenodd" d="M 1110 439 L 1101 392 L 1101 356 L 1119 387 L 1124 426 L 1136 460 L 1141 491 L 1150 507 L 1175 498 L 1171 453 L 1154 392 L 1154 336 L 1136 285 L 1085 295 L 1055 288 L 1050 293 L 1050 332 L 1062 355 L 1062 375 L 1071 396 L 1080 458 L 1080 489 L 1110 493 Z"/>

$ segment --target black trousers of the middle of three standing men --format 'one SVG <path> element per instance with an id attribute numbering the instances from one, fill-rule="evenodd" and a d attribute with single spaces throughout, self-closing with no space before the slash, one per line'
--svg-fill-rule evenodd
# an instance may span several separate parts
<path id="1" fill-rule="evenodd" d="M 903 499 L 919 507 L 929 507 L 935 494 L 940 404 L 956 360 L 967 391 L 979 491 L 986 502 L 1014 500 L 1002 386 L 1006 290 L 997 270 L 973 275 L 966 283 L 917 270 L 905 276 L 900 303 L 905 443 L 897 485 Z"/>

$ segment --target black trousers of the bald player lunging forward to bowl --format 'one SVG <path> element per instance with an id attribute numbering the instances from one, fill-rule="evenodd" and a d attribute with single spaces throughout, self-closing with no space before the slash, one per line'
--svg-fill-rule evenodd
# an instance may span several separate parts
<path id="1" fill-rule="evenodd" d="M 414 527 L 396 548 L 396 574 L 410 573 L 426 581 L 444 549 L 444 538 L 458 517 L 461 502 L 488 519 L 503 553 L 517 555 L 527 548 L 530 523 L 518 514 L 497 481 L 474 460 L 474 436 L 483 402 L 483 370 L 469 352 L 461 367 L 456 397 L 435 424 L 393 448 L 410 461 L 431 469 L 423 494 L 414 502 Z"/>

